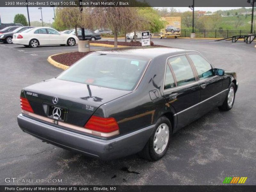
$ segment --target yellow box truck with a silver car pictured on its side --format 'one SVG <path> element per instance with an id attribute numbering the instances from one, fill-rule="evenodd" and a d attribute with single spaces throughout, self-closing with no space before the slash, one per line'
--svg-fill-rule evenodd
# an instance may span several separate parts
<path id="1" fill-rule="evenodd" d="M 160 39 L 163 37 L 177 38 L 181 33 L 181 17 L 162 17 L 162 20 L 166 21 L 166 26 L 160 32 Z"/>

